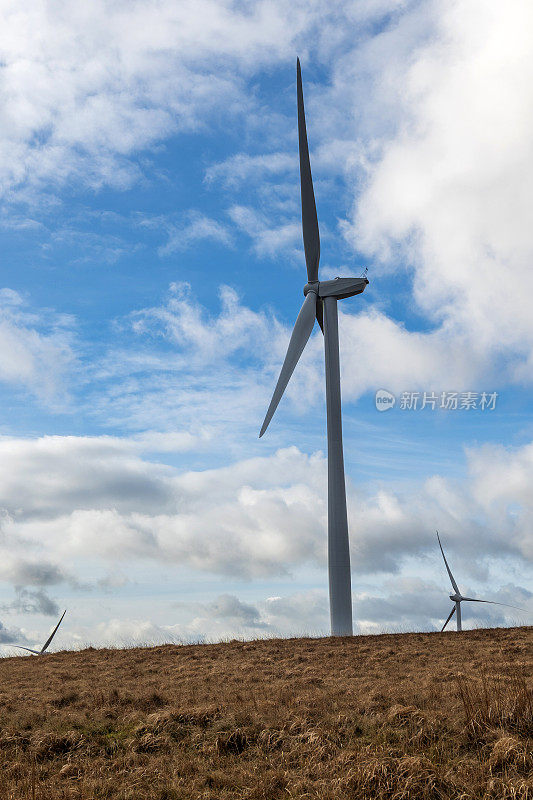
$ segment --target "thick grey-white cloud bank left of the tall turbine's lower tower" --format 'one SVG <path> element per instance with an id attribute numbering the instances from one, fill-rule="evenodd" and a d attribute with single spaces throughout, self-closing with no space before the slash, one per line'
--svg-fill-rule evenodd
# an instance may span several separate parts
<path id="1" fill-rule="evenodd" d="M 180 475 L 142 460 L 127 440 L 4 439 L 0 449 L 8 514 L 1 577 L 16 585 L 68 580 L 48 555 L 121 566 L 142 557 L 228 575 L 282 574 L 322 560 L 321 504 L 307 473 L 322 472 L 323 462 L 298 451 Z M 14 569 L 19 552 L 26 560 Z"/>

